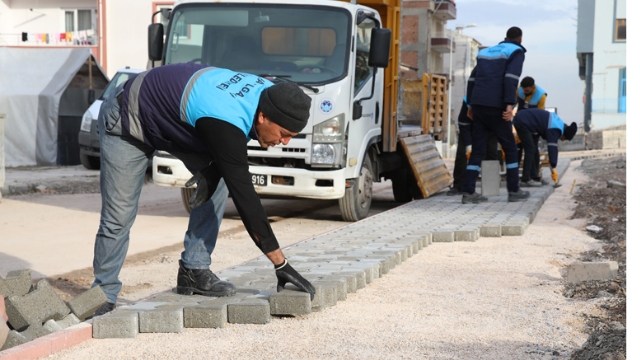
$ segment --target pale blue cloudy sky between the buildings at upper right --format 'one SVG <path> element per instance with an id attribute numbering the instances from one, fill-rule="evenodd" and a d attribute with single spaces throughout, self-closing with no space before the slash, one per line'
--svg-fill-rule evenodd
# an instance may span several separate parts
<path id="1" fill-rule="evenodd" d="M 511 26 L 522 29 L 527 49 L 520 79 L 531 76 L 547 92 L 547 107 L 557 107 L 566 122 L 583 122 L 584 82 L 576 57 L 577 0 L 455 0 L 457 18 L 447 29 L 475 24 L 462 33 L 493 46 Z"/>

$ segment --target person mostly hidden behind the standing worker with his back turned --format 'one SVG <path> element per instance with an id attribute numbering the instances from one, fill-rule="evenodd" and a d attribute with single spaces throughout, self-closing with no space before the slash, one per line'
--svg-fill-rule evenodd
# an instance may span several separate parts
<path id="1" fill-rule="evenodd" d="M 465 96 L 462 99 L 462 107 L 458 114 L 458 148 L 456 149 L 456 159 L 453 164 L 453 185 L 447 191 L 447 196 L 462 195 L 465 170 L 472 149 L 471 132 L 473 130 L 473 122 L 467 117 L 468 109 L 467 97 Z M 499 160 L 498 156 L 498 139 L 496 139 L 495 134 L 491 133 L 487 138 L 487 150 L 484 160 Z"/>

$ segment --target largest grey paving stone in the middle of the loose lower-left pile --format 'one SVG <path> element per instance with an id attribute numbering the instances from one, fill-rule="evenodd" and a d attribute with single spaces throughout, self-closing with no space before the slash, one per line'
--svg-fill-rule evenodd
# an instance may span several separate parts
<path id="1" fill-rule="evenodd" d="M 26 295 L 6 299 L 9 324 L 16 330 L 33 324 L 42 325 L 49 319 L 62 320 L 70 310 L 47 280 L 40 280 L 36 288 Z"/>

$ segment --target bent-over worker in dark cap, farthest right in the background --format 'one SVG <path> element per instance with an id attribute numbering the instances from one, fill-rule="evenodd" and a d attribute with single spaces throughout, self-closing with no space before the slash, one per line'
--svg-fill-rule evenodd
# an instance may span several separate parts
<path id="1" fill-rule="evenodd" d="M 528 109 L 518 111 L 513 118 L 520 142 L 524 148 L 524 162 L 522 165 L 522 181 L 529 181 L 530 174 L 537 174 L 538 164 L 534 161 L 535 148 L 540 137 L 547 140 L 551 179 L 558 183 L 558 141 L 571 140 L 576 135 L 578 126 L 575 122 L 567 125 L 553 112 L 542 109 Z"/>

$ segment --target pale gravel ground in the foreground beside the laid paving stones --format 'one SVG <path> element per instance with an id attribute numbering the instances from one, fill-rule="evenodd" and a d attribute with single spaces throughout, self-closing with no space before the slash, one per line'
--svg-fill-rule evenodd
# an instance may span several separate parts
<path id="1" fill-rule="evenodd" d="M 585 318 L 602 316 L 606 301 L 565 297 L 565 267 L 581 254 L 602 251 L 584 230 L 586 220 L 572 219 L 576 203 L 567 184 L 588 181 L 576 171 L 579 164 L 572 162 L 565 186 L 549 197 L 524 236 L 432 244 L 322 312 L 267 325 L 92 339 L 48 358 L 569 358 L 588 338 Z M 216 249 L 217 266 L 238 264 L 233 255 L 246 250 L 246 241 L 235 243 Z M 170 259 L 177 254 L 168 251 L 164 262 L 158 255 L 153 271 L 173 278 Z M 141 269 L 123 274 L 144 283 L 149 273 Z M 145 291 L 133 289 L 127 297 Z"/>

